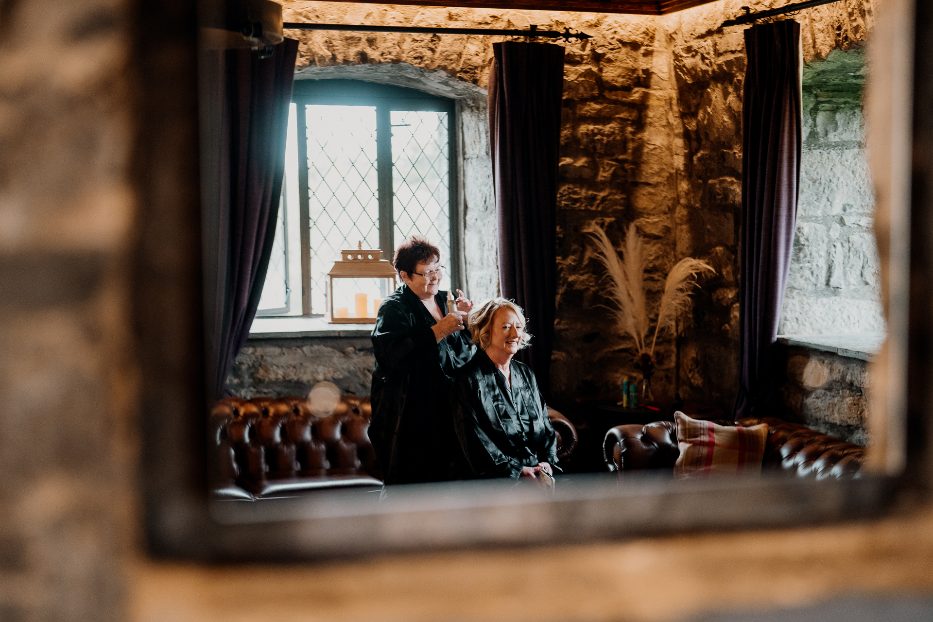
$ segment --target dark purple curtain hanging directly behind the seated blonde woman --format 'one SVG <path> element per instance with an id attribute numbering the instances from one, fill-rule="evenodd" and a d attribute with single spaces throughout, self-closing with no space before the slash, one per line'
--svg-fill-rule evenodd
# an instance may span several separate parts
<path id="1" fill-rule="evenodd" d="M 535 338 L 519 360 L 548 394 L 557 275 L 557 163 L 564 48 L 508 41 L 493 45 L 490 141 L 499 226 L 502 296 L 528 316 Z"/>

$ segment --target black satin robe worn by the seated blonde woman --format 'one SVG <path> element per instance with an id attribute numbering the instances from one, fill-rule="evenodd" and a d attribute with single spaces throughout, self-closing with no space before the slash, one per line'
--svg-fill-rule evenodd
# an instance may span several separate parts
<path id="1" fill-rule="evenodd" d="M 455 474 L 513 477 L 522 466 L 557 467 L 557 435 L 531 368 L 512 360 L 511 387 L 486 355 L 477 352 L 457 372 L 451 394 L 453 428 L 466 463 Z"/>

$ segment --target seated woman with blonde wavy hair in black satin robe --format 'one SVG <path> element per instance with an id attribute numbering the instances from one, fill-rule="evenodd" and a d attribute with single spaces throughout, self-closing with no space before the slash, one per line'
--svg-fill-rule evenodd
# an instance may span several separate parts
<path id="1" fill-rule="evenodd" d="M 460 478 L 538 479 L 553 475 L 557 435 L 550 424 L 535 374 L 512 357 L 528 345 L 524 312 L 494 298 L 469 316 L 480 351 L 453 380 L 453 427 L 466 455 Z"/>

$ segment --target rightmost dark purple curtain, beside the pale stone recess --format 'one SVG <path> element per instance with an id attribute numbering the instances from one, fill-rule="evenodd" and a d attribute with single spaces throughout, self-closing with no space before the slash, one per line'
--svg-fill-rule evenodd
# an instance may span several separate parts
<path id="1" fill-rule="evenodd" d="M 801 25 L 745 31 L 742 281 L 736 419 L 773 413 L 773 345 L 801 181 Z"/>

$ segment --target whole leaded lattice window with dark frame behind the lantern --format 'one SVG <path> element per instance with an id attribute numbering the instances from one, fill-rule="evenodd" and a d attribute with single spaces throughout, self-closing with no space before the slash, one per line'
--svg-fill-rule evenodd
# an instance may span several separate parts
<path id="1" fill-rule="evenodd" d="M 299 218 L 280 211 L 279 227 L 300 242 L 293 249 L 277 231 L 260 314 L 298 312 L 288 272 L 297 256 L 300 313 L 321 315 L 341 249 L 362 242 L 391 258 L 413 234 L 440 249 L 449 267 L 441 288 L 459 286 L 453 100 L 341 79 L 297 80 L 292 100 L 284 195 L 298 201 Z"/>

